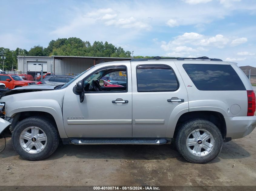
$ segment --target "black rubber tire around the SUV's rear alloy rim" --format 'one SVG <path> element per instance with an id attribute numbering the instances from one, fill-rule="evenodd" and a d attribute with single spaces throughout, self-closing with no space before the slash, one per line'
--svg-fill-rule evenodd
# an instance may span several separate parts
<path id="1" fill-rule="evenodd" d="M 205 129 L 210 132 L 214 138 L 214 147 L 207 155 L 196 156 L 187 148 L 187 137 L 196 129 Z M 220 130 L 216 125 L 205 119 L 189 120 L 181 125 L 176 137 L 176 148 L 179 153 L 189 162 L 192 163 L 208 163 L 218 156 L 222 149 L 223 138 Z"/>

